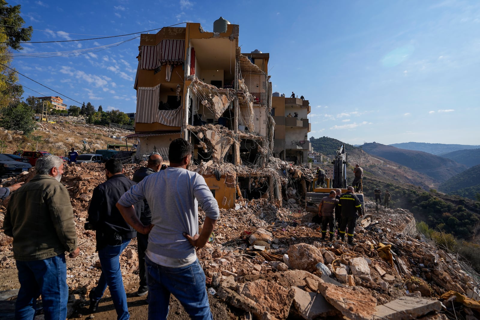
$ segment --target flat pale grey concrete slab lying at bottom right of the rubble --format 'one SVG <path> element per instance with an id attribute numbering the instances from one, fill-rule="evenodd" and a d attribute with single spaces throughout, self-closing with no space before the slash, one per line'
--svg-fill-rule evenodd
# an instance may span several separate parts
<path id="1" fill-rule="evenodd" d="M 377 306 L 374 316 L 388 320 L 416 319 L 431 311 L 440 311 L 441 309 L 442 304 L 438 300 L 402 296 Z"/>

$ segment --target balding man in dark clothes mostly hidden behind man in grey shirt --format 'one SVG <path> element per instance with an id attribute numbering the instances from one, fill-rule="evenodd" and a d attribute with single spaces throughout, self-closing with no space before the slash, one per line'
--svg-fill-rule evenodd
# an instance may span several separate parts
<path id="1" fill-rule="evenodd" d="M 160 154 L 150 154 L 148 156 L 147 166 L 138 168 L 133 174 L 132 180 L 139 183 L 145 177 L 160 171 L 162 163 L 163 158 Z M 152 223 L 152 213 L 146 200 L 144 200 L 144 210 L 140 215 L 140 222 L 144 225 L 150 225 Z M 148 293 L 147 276 L 145 274 L 145 251 L 147 250 L 147 245 L 148 235 L 137 232 L 138 270 L 140 276 L 140 286 L 137 291 L 137 296 L 144 296 Z"/>

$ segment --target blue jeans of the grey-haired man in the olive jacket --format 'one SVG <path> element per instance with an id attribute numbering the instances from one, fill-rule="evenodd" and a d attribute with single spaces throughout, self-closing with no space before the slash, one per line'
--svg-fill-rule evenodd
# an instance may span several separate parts
<path id="1" fill-rule="evenodd" d="M 65 255 L 37 261 L 17 261 L 18 291 L 15 319 L 32 320 L 36 299 L 42 296 L 46 320 L 67 318 L 67 265 Z"/>

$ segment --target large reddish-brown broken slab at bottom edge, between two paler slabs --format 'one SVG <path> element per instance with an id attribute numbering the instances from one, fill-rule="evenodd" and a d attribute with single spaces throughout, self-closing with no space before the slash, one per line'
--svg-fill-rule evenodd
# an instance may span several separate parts
<path id="1" fill-rule="evenodd" d="M 351 320 L 372 320 L 377 299 L 360 286 L 340 287 L 320 282 L 318 290 L 338 311 Z"/>

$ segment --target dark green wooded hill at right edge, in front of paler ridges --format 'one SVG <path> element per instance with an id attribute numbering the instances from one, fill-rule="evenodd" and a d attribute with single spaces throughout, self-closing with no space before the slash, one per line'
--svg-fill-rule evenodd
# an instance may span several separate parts
<path id="1" fill-rule="evenodd" d="M 480 165 L 472 166 L 453 178 L 442 183 L 438 190 L 475 199 L 480 192 Z"/>

